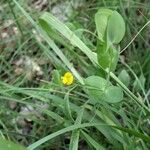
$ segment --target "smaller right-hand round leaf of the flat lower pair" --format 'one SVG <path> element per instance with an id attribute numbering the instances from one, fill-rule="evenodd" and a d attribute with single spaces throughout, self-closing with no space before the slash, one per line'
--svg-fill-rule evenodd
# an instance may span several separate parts
<path id="1" fill-rule="evenodd" d="M 109 86 L 106 88 L 103 100 L 109 103 L 118 103 L 123 99 L 123 91 L 121 87 Z"/>

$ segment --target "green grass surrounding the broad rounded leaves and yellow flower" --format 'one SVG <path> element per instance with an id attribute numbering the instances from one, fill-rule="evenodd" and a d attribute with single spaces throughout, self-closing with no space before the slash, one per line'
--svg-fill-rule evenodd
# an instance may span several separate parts
<path id="1" fill-rule="evenodd" d="M 52 14 L 65 4 L 60 14 Z M 47 10 L 39 10 L 34 1 L 1 1 L 1 139 L 29 150 L 148 150 L 149 4 L 142 0 L 52 0 L 43 5 Z M 114 72 L 104 71 L 96 57 L 94 15 L 101 7 L 117 10 L 126 23 Z M 131 78 L 128 86 L 118 78 L 123 69 Z M 67 71 L 75 78 L 70 86 L 60 80 Z M 123 100 L 95 103 L 85 85 L 85 78 L 92 75 L 120 86 Z M 0 143 L 7 149 L 5 142 Z M 16 145 L 12 147 L 17 150 Z"/>

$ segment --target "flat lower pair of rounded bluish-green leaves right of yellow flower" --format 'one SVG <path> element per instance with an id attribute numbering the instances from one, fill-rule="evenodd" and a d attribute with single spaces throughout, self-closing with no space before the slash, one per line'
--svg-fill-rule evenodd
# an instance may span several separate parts
<path id="1" fill-rule="evenodd" d="M 107 80 L 99 76 L 90 76 L 85 79 L 86 92 L 95 100 L 117 103 L 123 99 L 123 91 L 118 86 L 111 85 Z"/>

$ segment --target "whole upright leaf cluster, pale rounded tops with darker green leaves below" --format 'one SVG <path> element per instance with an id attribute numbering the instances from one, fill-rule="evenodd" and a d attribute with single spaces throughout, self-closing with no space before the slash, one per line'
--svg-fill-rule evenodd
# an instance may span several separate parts
<path id="1" fill-rule="evenodd" d="M 95 15 L 98 32 L 97 58 L 103 69 L 114 71 L 119 59 L 118 44 L 125 34 L 125 23 L 117 11 L 100 9 Z"/>

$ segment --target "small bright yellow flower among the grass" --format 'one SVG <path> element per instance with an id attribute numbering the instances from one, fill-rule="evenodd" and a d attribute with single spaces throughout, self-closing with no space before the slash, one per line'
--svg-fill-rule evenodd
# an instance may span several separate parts
<path id="1" fill-rule="evenodd" d="M 64 76 L 61 77 L 61 80 L 64 85 L 71 85 L 74 78 L 71 72 L 66 72 Z"/>

